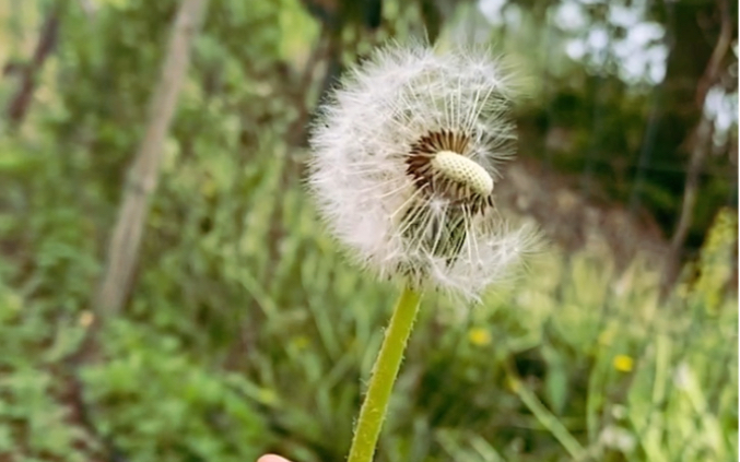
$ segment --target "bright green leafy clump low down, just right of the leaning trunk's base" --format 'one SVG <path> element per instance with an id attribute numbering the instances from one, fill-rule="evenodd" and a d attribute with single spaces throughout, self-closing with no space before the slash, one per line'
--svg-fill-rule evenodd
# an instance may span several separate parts
<path id="1" fill-rule="evenodd" d="M 256 459 L 270 441 L 243 376 L 189 358 L 176 337 L 119 323 L 107 360 L 85 368 L 92 418 L 137 461 Z"/>

